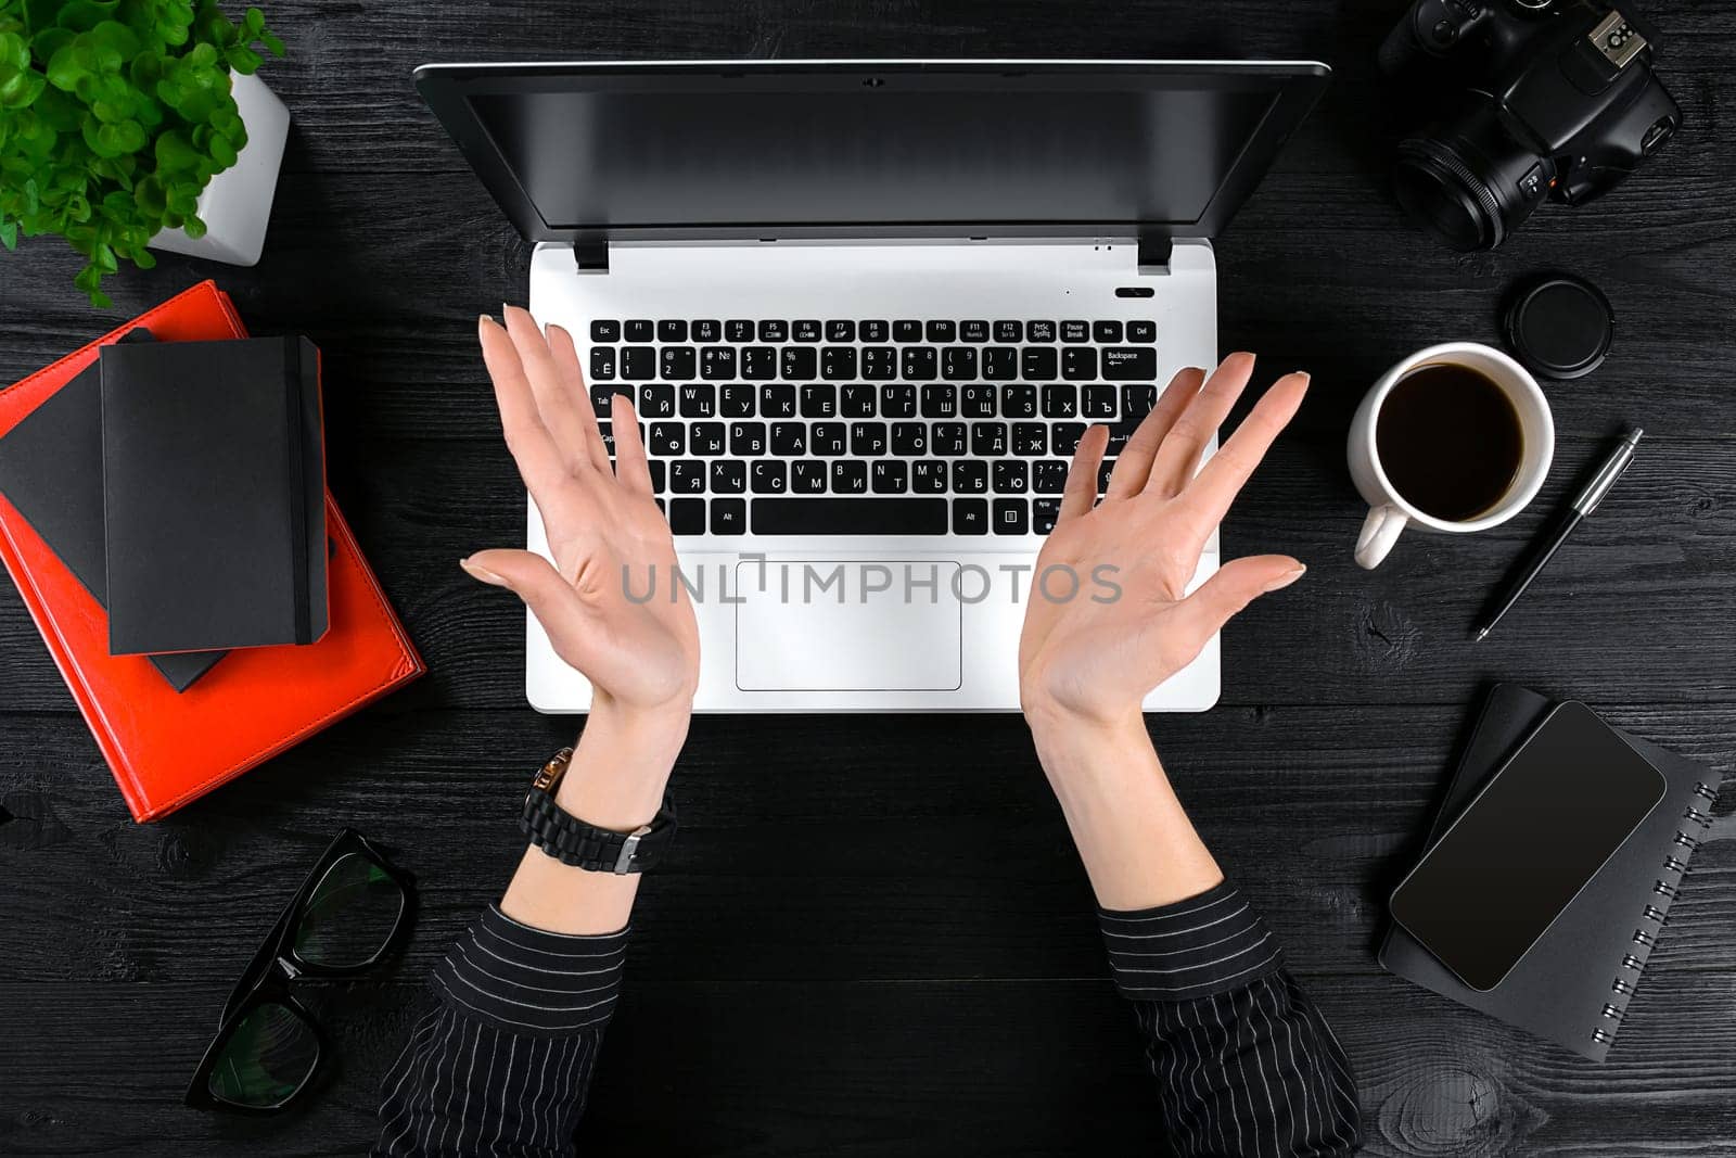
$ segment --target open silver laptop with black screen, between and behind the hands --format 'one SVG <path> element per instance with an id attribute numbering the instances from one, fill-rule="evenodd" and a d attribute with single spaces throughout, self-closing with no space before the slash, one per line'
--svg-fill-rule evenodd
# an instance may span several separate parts
<path id="1" fill-rule="evenodd" d="M 1212 366 L 1212 238 L 1318 63 L 429 64 L 417 87 L 535 243 L 529 309 L 630 391 L 710 712 L 1019 705 L 1033 575 L 1087 424 L 1111 455 Z M 1106 464 L 1104 477 L 1108 477 Z M 528 542 L 547 554 L 529 509 Z M 1217 569 L 1217 536 L 1194 576 Z M 642 589 L 641 589 L 642 587 Z M 526 696 L 583 712 L 535 618 Z M 1219 642 L 1144 707 L 1219 698 Z"/>

